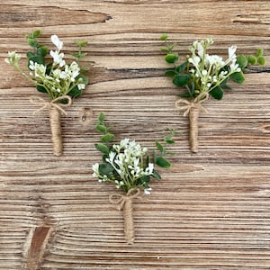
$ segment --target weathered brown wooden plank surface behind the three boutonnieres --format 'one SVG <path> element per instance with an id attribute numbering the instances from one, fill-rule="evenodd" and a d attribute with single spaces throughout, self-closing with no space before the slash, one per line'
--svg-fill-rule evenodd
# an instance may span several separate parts
<path id="1" fill-rule="evenodd" d="M 52 155 L 49 115 L 6 52 L 25 56 L 24 36 L 57 34 L 65 52 L 88 40 L 91 84 L 62 118 L 64 155 Z M 200 117 L 200 149 L 175 111 L 179 89 L 164 76 L 158 40 L 168 33 L 184 57 L 211 36 L 212 53 L 266 51 L 244 85 L 211 99 Z M 0 6 L 0 269 L 270 269 L 270 2 L 215 0 L 5 0 Z M 25 58 L 23 57 L 23 61 Z M 22 62 L 23 62 L 22 61 Z M 123 238 L 121 211 L 91 166 L 94 123 L 104 112 L 118 139 L 153 149 L 180 130 L 173 167 L 134 202 L 136 241 Z M 85 121 L 83 121 L 85 120 Z"/>

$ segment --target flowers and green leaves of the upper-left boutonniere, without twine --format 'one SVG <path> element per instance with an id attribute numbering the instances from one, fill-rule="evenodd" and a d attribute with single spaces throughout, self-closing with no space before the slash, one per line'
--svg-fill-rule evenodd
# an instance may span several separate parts
<path id="1" fill-rule="evenodd" d="M 31 46 L 32 50 L 26 53 L 27 67 L 30 70 L 26 74 L 19 66 L 21 55 L 12 51 L 8 53 L 8 58 L 5 62 L 13 66 L 23 76 L 29 79 L 38 91 L 49 94 L 50 100 L 54 100 L 59 96 L 69 95 L 71 97 L 78 97 L 88 85 L 88 78 L 82 74 L 87 67 L 80 67 L 79 63 L 86 53 L 82 52 L 83 47 L 87 45 L 87 41 L 76 41 L 78 48 L 77 53 L 72 53 L 75 60 L 67 64 L 64 59 L 63 41 L 58 39 L 57 35 L 52 35 L 50 40 L 56 46 L 55 50 L 49 50 L 46 46 L 41 45 L 38 38 L 40 31 L 33 31 L 26 35 L 26 40 Z M 48 54 L 52 58 L 49 61 Z"/>

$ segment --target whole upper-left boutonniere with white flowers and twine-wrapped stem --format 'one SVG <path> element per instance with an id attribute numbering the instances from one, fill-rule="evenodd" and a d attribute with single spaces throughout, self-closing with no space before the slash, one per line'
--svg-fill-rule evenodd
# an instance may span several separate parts
<path id="1" fill-rule="evenodd" d="M 88 78 L 82 74 L 87 67 L 80 66 L 81 58 L 86 53 L 82 52 L 87 41 L 76 41 L 78 52 L 72 53 L 74 60 L 67 64 L 62 52 L 63 41 L 58 39 L 57 35 L 50 37 L 51 42 L 55 46 L 54 49 L 48 49 L 41 45 L 38 38 L 40 31 L 33 31 L 26 36 L 28 44 L 32 50 L 26 53 L 27 67 L 29 73 L 25 73 L 19 63 L 22 58 L 16 51 L 8 52 L 8 58 L 5 62 L 18 70 L 25 78 L 33 83 L 37 90 L 41 93 L 48 94 L 49 101 L 40 96 L 31 97 L 31 102 L 40 105 L 40 112 L 43 109 L 49 109 L 49 121 L 51 129 L 51 139 L 53 142 L 54 155 L 62 154 L 61 142 L 61 114 L 67 115 L 65 108 L 71 105 L 72 98 L 78 97 L 88 84 Z M 47 56 L 50 56 L 48 58 Z"/>

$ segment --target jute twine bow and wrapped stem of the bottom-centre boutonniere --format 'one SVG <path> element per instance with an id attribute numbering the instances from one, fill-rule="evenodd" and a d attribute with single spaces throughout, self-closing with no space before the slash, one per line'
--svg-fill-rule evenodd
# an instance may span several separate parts
<path id="1" fill-rule="evenodd" d="M 132 202 L 135 198 L 140 198 L 139 188 L 130 189 L 125 195 L 113 193 L 110 195 L 110 202 L 118 204 L 117 209 L 122 210 L 124 218 L 125 239 L 128 244 L 133 244 L 135 239 L 134 222 L 133 222 L 133 206 Z"/>

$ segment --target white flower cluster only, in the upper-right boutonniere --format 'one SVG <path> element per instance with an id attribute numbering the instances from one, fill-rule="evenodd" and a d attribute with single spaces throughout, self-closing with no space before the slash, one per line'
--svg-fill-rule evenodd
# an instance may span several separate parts
<path id="1" fill-rule="evenodd" d="M 189 72 L 195 80 L 200 80 L 201 91 L 211 91 L 216 85 L 229 77 L 232 73 L 240 72 L 241 68 L 237 64 L 236 46 L 228 49 L 229 58 L 223 60 L 218 55 L 209 55 L 206 49 L 213 43 L 213 40 L 207 39 L 194 41 L 190 47 L 192 56 L 188 57 L 188 62 L 193 64 Z M 228 70 L 221 70 L 223 67 L 229 67 Z M 197 79 L 196 79 L 197 78 Z"/>

